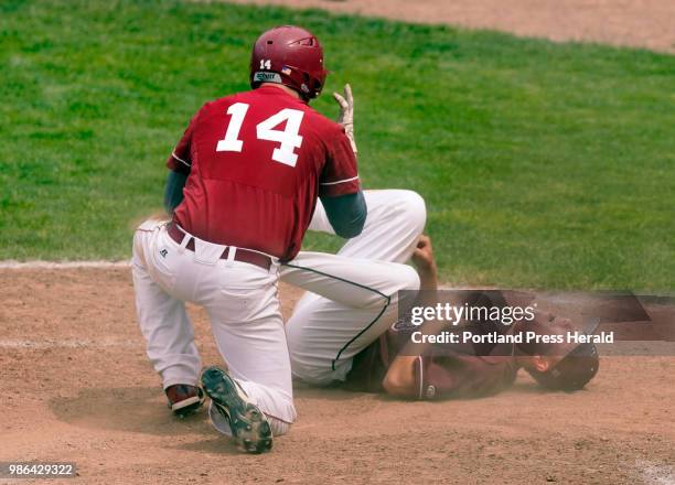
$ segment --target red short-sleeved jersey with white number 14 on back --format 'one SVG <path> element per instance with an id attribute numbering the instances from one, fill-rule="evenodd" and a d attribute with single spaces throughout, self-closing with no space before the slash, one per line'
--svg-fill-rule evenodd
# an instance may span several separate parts
<path id="1" fill-rule="evenodd" d="M 290 260 L 318 196 L 358 192 L 343 128 L 275 86 L 204 105 L 167 162 L 189 173 L 174 220 L 188 233 Z"/>

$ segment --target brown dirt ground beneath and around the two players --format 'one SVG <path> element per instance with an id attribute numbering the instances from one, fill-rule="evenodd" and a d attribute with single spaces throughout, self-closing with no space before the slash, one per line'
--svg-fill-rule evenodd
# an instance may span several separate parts
<path id="1" fill-rule="evenodd" d="M 165 408 L 128 269 L 6 269 L 0 294 L 0 462 L 73 461 L 78 482 L 106 484 L 675 483 L 673 357 L 606 357 L 572 395 L 525 375 L 480 400 L 298 389 L 291 433 L 249 456 L 204 413 L 180 421 Z M 287 314 L 297 297 L 282 288 Z M 218 364 L 192 314 L 204 364 Z"/>

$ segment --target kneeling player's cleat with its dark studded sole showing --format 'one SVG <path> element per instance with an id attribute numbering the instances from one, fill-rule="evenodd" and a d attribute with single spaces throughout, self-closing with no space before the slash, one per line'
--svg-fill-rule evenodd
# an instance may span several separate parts
<path id="1" fill-rule="evenodd" d="M 262 453 L 271 449 L 272 433 L 267 417 L 225 370 L 205 368 L 202 387 L 217 412 L 229 423 L 233 439 L 239 448 L 247 453 Z"/>

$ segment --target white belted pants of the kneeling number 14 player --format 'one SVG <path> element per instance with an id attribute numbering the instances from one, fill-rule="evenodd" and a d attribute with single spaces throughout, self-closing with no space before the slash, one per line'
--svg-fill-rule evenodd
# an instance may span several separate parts
<path id="1" fill-rule="evenodd" d="M 219 259 L 224 249 L 199 239 L 194 251 L 183 249 L 167 234 L 165 222 L 148 220 L 138 228 L 132 273 L 148 357 L 164 389 L 196 385 L 202 363 L 183 302 L 204 306 L 231 376 L 280 435 L 294 421 L 296 409 L 277 298 L 278 265 L 265 270 Z"/>

